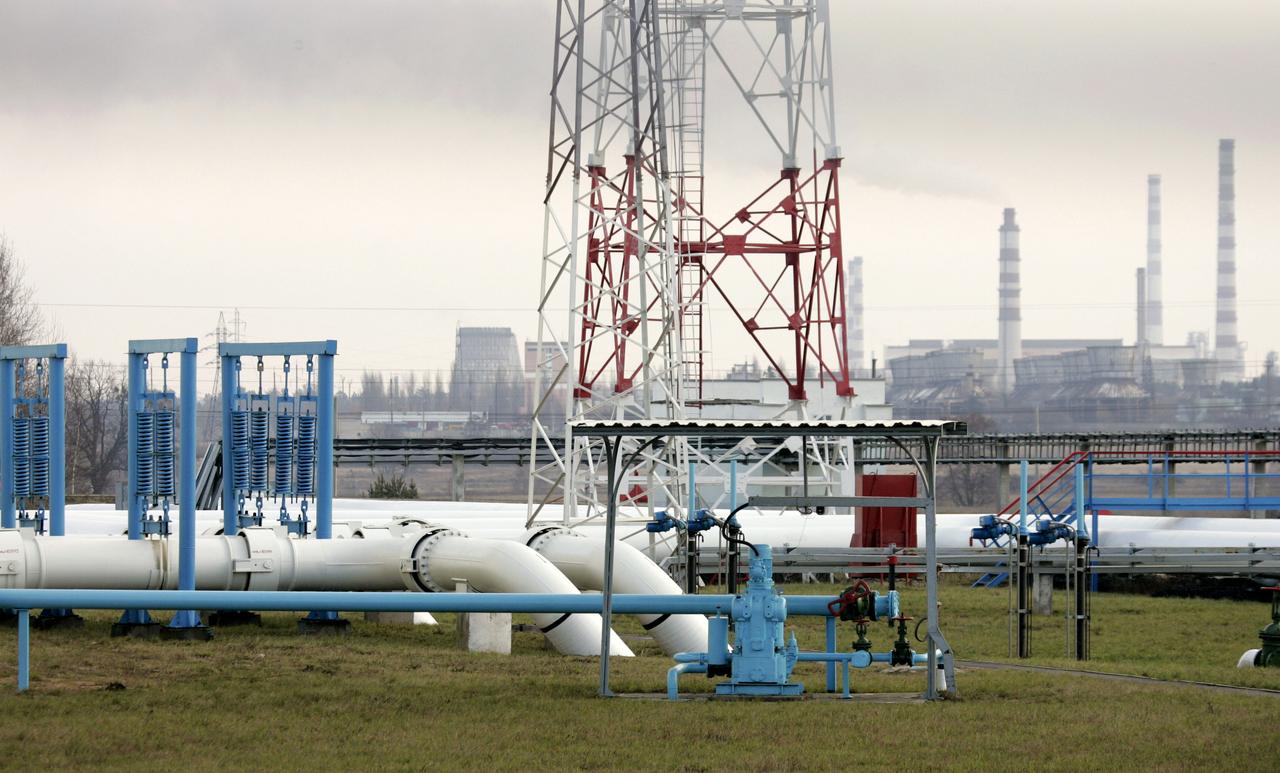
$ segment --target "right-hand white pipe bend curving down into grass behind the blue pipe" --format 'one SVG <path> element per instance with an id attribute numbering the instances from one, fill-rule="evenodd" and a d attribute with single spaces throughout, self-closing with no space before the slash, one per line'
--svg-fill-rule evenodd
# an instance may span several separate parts
<path id="1" fill-rule="evenodd" d="M 600 543 L 561 527 L 538 529 L 525 540 L 545 555 L 581 590 L 604 587 L 604 552 Z M 684 589 L 644 553 L 626 543 L 613 550 L 614 593 L 681 595 Z M 699 653 L 707 649 L 707 618 L 701 614 L 637 614 L 662 651 Z"/>

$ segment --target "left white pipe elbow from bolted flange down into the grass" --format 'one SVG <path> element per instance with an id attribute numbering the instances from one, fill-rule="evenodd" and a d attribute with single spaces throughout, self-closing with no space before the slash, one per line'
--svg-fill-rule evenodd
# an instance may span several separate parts
<path id="1" fill-rule="evenodd" d="M 536 550 L 508 540 L 465 536 L 452 530 L 428 531 L 413 549 L 415 576 L 424 590 L 451 591 L 460 581 L 480 593 L 579 593 L 556 566 Z M 534 622 L 552 645 L 568 655 L 600 654 L 604 621 L 599 614 L 535 614 Z M 611 631 L 609 653 L 632 657 Z"/>

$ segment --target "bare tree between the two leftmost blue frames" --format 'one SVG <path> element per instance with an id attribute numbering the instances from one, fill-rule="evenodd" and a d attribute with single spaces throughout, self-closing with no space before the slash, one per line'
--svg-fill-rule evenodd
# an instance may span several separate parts
<path id="1" fill-rule="evenodd" d="M 124 372 L 100 361 L 67 369 L 67 467 L 73 488 L 108 494 L 128 452 Z"/>

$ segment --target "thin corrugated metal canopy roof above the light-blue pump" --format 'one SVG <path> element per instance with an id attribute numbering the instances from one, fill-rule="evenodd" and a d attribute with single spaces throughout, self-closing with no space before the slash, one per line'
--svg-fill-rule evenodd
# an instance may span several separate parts
<path id="1" fill-rule="evenodd" d="M 586 420 L 570 425 L 573 434 L 584 438 L 655 438 L 698 435 L 703 438 L 941 438 L 964 435 L 968 426 L 963 421 L 846 421 L 846 420 L 701 420 L 701 418 L 644 418 L 626 421 Z"/>

